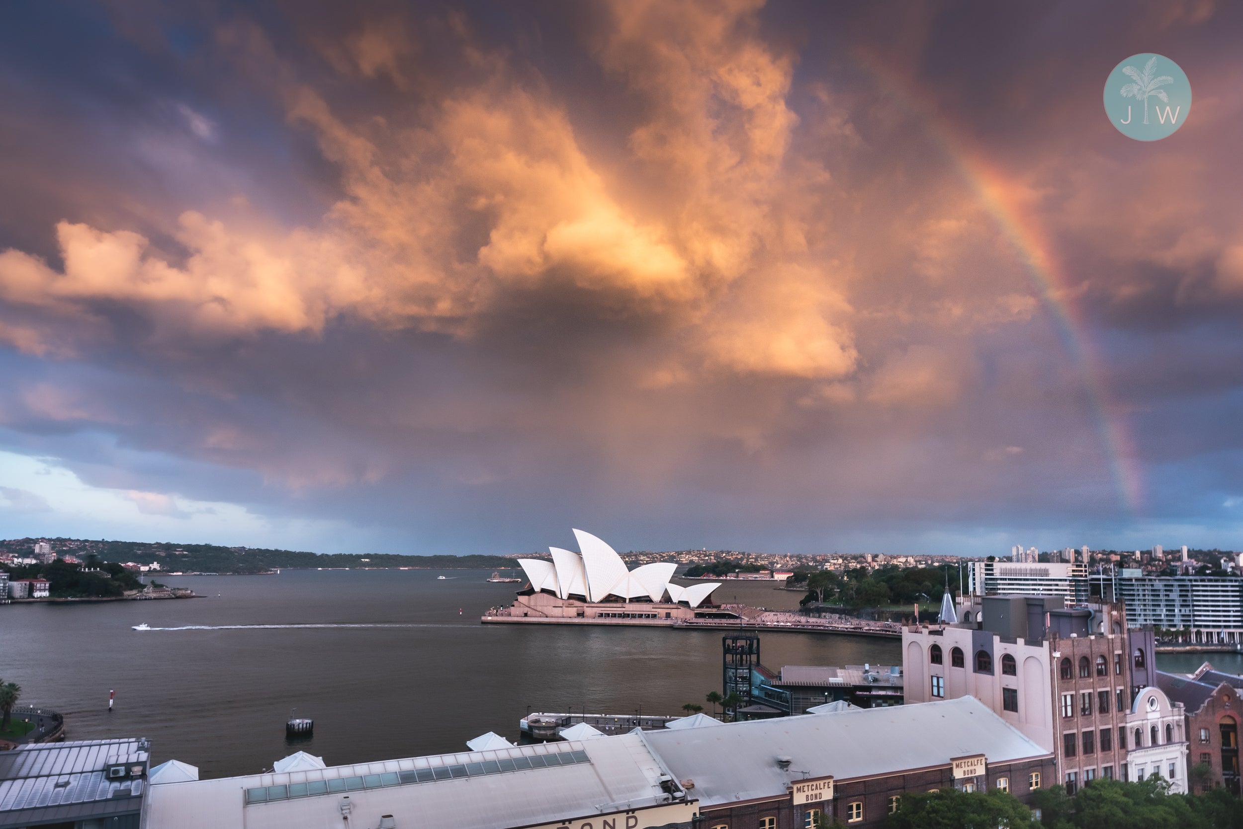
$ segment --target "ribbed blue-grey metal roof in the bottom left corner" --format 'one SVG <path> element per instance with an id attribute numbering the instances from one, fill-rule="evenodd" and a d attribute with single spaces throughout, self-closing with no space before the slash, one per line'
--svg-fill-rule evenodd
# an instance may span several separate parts
<path id="1" fill-rule="evenodd" d="M 0 753 L 0 825 L 11 822 L 4 813 L 139 797 L 142 779 L 108 781 L 106 771 L 111 763 L 145 763 L 145 745 L 139 740 L 88 740 Z"/>

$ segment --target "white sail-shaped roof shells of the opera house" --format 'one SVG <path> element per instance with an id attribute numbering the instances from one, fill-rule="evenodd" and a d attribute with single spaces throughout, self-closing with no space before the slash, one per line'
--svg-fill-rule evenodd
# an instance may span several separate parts
<path id="1" fill-rule="evenodd" d="M 582 596 L 589 602 L 600 602 L 608 596 L 626 601 L 661 602 L 667 596 L 670 602 L 686 602 L 691 607 L 699 607 L 721 586 L 720 582 L 690 587 L 674 585 L 669 580 L 674 577 L 677 565 L 670 562 L 626 570 L 622 556 L 600 539 L 582 530 L 574 530 L 574 536 L 582 552 L 548 547 L 552 562 L 518 558 L 532 589 L 547 589 L 558 598 Z"/>

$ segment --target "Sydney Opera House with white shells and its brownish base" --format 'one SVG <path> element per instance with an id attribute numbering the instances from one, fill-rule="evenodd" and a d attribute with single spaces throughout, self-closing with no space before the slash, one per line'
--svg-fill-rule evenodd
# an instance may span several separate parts
<path id="1" fill-rule="evenodd" d="M 549 547 L 552 561 L 518 558 L 528 583 L 518 591 L 512 606 L 488 617 L 531 622 L 674 622 L 735 616 L 712 603 L 718 582 L 674 585 L 669 580 L 677 565 L 667 562 L 626 570 L 622 556 L 604 541 L 582 530 L 574 530 L 574 535 L 582 552 Z"/>

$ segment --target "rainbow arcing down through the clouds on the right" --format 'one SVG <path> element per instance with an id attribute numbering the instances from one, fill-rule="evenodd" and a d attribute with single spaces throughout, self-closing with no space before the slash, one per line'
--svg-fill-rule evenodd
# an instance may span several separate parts
<path id="1" fill-rule="evenodd" d="M 1024 189 L 989 165 L 972 149 L 972 141 L 953 124 L 924 103 L 914 78 L 900 76 L 864 48 L 853 50 L 860 68 L 868 72 L 904 109 L 916 117 L 924 134 L 953 164 L 992 216 L 1022 261 L 1033 285 L 1054 321 L 1058 339 L 1076 366 L 1095 415 L 1096 432 L 1109 462 L 1110 475 L 1122 509 L 1137 516 L 1142 504 L 1142 478 L 1126 418 L 1101 381 L 1100 355 L 1089 338 L 1089 326 L 1073 303 L 1071 283 L 1053 254 L 1054 247 L 1039 220 L 1027 207 Z"/>

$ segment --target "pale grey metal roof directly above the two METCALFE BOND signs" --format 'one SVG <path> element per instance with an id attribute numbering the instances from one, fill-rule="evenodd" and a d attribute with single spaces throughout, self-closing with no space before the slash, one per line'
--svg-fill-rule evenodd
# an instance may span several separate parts
<path id="1" fill-rule="evenodd" d="M 643 736 L 675 778 L 694 781 L 701 807 L 784 797 L 803 772 L 849 779 L 976 753 L 991 763 L 1049 755 L 972 696 Z M 789 771 L 778 767 L 778 756 L 792 760 Z"/>

